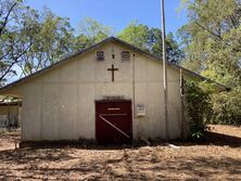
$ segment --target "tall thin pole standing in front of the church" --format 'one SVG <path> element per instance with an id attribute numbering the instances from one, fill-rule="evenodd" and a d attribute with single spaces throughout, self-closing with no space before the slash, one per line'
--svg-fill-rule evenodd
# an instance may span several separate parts
<path id="1" fill-rule="evenodd" d="M 165 30 L 165 4 L 164 0 L 162 7 L 162 38 L 163 38 L 163 90 L 164 90 L 164 116 L 166 122 L 166 141 L 169 141 L 169 119 L 168 119 L 168 90 L 167 90 L 167 60 L 166 60 L 166 30 Z"/>

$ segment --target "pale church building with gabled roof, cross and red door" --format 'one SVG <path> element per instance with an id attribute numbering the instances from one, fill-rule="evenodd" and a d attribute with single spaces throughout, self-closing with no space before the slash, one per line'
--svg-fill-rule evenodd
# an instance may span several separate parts
<path id="1" fill-rule="evenodd" d="M 1 88 L 0 94 L 22 99 L 22 142 L 128 143 L 165 139 L 166 130 L 170 139 L 181 138 L 183 79 L 212 81 L 168 63 L 168 130 L 162 60 L 114 37 Z"/>

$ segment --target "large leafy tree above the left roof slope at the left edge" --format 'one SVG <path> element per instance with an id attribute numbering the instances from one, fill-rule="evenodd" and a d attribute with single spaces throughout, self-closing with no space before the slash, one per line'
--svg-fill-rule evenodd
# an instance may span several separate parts
<path id="1" fill-rule="evenodd" d="M 74 30 L 68 18 L 14 0 L 1 0 L 0 12 L 1 83 L 16 76 L 16 69 L 22 69 L 21 77 L 26 76 L 73 52 Z"/>

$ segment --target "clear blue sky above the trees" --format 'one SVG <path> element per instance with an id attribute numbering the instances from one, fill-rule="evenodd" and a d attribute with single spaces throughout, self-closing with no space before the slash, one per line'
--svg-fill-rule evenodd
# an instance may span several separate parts
<path id="1" fill-rule="evenodd" d="M 161 28 L 161 0 L 25 0 L 34 9 L 48 7 L 61 17 L 69 17 L 78 29 L 85 17 L 111 26 L 119 33 L 131 21 Z M 176 33 L 187 22 L 186 12 L 178 12 L 180 0 L 165 0 L 166 31 Z"/>

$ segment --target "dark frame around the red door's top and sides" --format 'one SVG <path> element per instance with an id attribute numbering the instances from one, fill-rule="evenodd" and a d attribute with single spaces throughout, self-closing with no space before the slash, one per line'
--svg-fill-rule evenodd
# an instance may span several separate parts
<path id="1" fill-rule="evenodd" d="M 97 113 L 97 104 L 98 103 L 129 103 L 130 105 L 130 137 L 131 140 L 130 142 L 132 142 L 134 140 L 134 130 L 132 130 L 132 101 L 131 100 L 96 100 L 94 101 L 94 112 L 96 112 L 96 120 L 94 120 L 94 137 L 96 137 L 96 142 L 98 142 L 97 140 L 97 119 L 98 119 L 98 113 Z"/>

